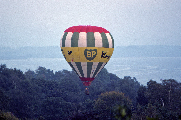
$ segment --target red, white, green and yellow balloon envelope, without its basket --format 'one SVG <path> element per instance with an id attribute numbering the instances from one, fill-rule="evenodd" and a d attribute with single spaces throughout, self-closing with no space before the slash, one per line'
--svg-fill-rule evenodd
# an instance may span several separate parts
<path id="1" fill-rule="evenodd" d="M 89 86 L 110 60 L 114 40 L 110 32 L 102 27 L 72 26 L 64 31 L 60 47 L 83 85 Z"/>

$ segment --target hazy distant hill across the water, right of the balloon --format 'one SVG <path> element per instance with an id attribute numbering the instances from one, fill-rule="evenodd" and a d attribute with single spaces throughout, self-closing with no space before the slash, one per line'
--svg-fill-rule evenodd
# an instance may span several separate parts
<path id="1" fill-rule="evenodd" d="M 118 46 L 113 57 L 181 57 L 181 46 Z"/>

